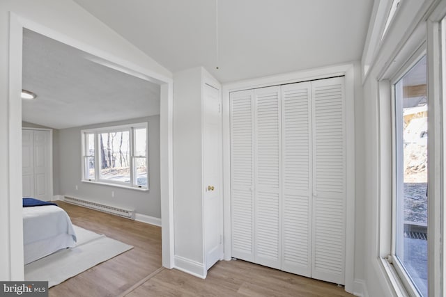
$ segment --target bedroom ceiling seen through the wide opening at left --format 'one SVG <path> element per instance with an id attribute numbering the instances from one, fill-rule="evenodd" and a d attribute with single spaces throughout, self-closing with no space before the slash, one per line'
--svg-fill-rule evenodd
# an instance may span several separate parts
<path id="1" fill-rule="evenodd" d="M 160 114 L 160 86 L 95 63 L 98 58 L 24 30 L 22 120 L 64 129 Z"/>

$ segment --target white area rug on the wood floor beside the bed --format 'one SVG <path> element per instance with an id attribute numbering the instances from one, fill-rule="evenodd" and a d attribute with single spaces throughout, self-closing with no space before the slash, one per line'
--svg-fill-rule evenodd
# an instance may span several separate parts
<path id="1" fill-rule="evenodd" d="M 25 265 L 26 281 L 48 281 L 48 287 L 53 287 L 133 248 L 105 235 L 75 225 L 73 227 L 77 236 L 76 246 L 58 250 L 52 255 Z"/>

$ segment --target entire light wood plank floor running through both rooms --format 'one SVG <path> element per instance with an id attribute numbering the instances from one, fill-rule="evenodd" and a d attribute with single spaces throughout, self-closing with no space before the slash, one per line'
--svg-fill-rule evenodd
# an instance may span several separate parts
<path id="1" fill-rule="evenodd" d="M 56 287 L 49 296 L 353 296 L 321 282 L 241 260 L 218 262 L 206 280 L 161 268 L 161 229 L 57 202 L 72 223 L 134 246 Z"/>

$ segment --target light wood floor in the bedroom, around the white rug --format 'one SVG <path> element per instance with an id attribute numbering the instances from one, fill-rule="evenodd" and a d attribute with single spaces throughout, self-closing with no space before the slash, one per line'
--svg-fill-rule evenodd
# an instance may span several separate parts
<path id="1" fill-rule="evenodd" d="M 122 294 L 162 266 L 161 228 L 58 201 L 74 225 L 134 246 L 49 289 L 49 296 Z"/>

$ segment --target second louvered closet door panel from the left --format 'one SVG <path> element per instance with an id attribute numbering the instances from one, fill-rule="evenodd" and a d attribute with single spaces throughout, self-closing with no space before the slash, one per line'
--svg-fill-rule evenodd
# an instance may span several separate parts
<path id="1" fill-rule="evenodd" d="M 280 87 L 254 90 L 254 261 L 281 267 Z"/>

